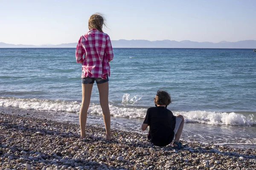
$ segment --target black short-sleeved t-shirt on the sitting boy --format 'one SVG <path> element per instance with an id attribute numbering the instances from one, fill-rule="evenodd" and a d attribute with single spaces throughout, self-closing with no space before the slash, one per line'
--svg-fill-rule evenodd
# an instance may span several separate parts
<path id="1" fill-rule="evenodd" d="M 163 106 L 148 108 L 144 122 L 149 125 L 148 139 L 157 146 L 170 144 L 174 137 L 176 117 Z"/>

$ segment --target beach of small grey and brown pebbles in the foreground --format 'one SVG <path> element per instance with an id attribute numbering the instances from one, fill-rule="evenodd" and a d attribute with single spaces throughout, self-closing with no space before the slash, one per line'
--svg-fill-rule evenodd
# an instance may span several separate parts
<path id="1" fill-rule="evenodd" d="M 0 112 L 0 170 L 255 170 L 256 149 L 181 141 L 157 147 L 140 133 Z"/>

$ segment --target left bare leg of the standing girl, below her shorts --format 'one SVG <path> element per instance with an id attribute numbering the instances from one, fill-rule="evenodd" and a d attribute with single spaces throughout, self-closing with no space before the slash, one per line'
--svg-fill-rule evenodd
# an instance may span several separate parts
<path id="1" fill-rule="evenodd" d="M 80 135 L 81 139 L 86 137 L 85 125 L 87 120 L 87 111 L 90 105 L 90 97 L 92 94 L 93 84 L 83 84 L 82 83 L 82 104 L 80 109 Z"/>

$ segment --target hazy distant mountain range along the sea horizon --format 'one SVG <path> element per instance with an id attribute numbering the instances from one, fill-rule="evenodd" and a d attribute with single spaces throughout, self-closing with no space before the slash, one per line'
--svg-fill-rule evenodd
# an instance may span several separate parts
<path id="1" fill-rule="evenodd" d="M 256 48 L 256 40 L 244 40 L 237 42 L 221 41 L 195 42 L 195 41 L 148 41 L 148 40 L 111 40 L 113 48 Z M 67 43 L 59 45 L 23 45 L 6 44 L 0 42 L 0 48 L 76 48 L 77 43 Z"/>

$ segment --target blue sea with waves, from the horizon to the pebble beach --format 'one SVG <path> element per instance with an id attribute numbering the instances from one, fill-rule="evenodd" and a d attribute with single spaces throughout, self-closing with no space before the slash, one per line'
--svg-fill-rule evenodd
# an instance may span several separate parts
<path id="1" fill-rule="evenodd" d="M 0 48 L 0 111 L 79 124 L 81 64 L 75 48 Z M 113 48 L 111 128 L 141 133 L 157 90 L 183 115 L 181 140 L 256 148 L 256 53 L 252 49 Z M 93 86 L 88 125 L 104 127 Z"/>

